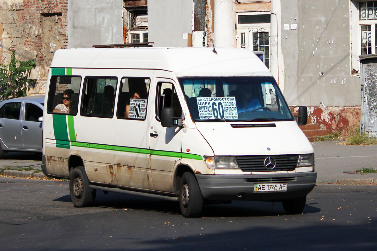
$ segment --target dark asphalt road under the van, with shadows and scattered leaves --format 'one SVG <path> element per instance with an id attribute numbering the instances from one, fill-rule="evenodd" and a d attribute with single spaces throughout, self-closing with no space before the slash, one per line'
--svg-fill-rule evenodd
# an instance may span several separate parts
<path id="1" fill-rule="evenodd" d="M 320 184 L 303 214 L 281 203 L 207 205 L 98 192 L 74 208 L 68 182 L 0 177 L 0 250 L 375 250 L 377 186 Z"/>

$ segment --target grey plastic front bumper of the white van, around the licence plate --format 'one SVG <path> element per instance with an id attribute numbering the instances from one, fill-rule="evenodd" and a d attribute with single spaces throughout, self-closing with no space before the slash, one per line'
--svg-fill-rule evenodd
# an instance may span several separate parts
<path id="1" fill-rule="evenodd" d="M 204 199 L 231 201 L 281 201 L 303 197 L 313 190 L 317 179 L 316 172 L 195 176 Z M 287 183 L 287 191 L 254 192 L 256 183 Z"/>

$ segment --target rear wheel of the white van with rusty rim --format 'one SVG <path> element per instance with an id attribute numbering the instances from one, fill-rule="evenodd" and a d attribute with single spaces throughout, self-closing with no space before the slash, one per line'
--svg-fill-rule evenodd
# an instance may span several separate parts
<path id="1" fill-rule="evenodd" d="M 89 180 L 83 166 L 75 167 L 70 173 L 69 193 L 75 207 L 93 205 L 97 190 L 89 188 Z"/>

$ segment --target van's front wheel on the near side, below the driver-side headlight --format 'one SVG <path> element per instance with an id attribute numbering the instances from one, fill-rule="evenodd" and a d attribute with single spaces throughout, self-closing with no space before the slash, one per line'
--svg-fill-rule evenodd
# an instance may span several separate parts
<path id="1" fill-rule="evenodd" d="M 179 205 L 185 218 L 199 217 L 202 214 L 203 197 L 195 176 L 190 172 L 182 175 L 179 189 Z"/>

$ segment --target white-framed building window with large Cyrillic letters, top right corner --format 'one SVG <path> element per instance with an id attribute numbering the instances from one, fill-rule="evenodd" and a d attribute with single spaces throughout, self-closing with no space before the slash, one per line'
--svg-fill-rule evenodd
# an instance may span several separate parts
<path id="1" fill-rule="evenodd" d="M 377 53 L 377 1 L 359 2 L 361 54 Z"/>

